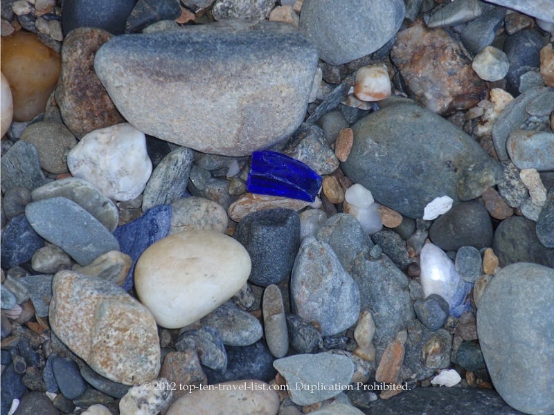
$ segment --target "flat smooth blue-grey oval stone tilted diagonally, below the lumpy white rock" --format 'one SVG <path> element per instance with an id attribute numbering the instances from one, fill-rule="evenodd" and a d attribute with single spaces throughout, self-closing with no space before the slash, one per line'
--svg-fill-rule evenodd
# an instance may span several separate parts
<path id="1" fill-rule="evenodd" d="M 114 235 L 98 219 L 64 197 L 29 203 L 25 215 L 37 234 L 82 266 L 106 252 L 119 250 Z"/>

